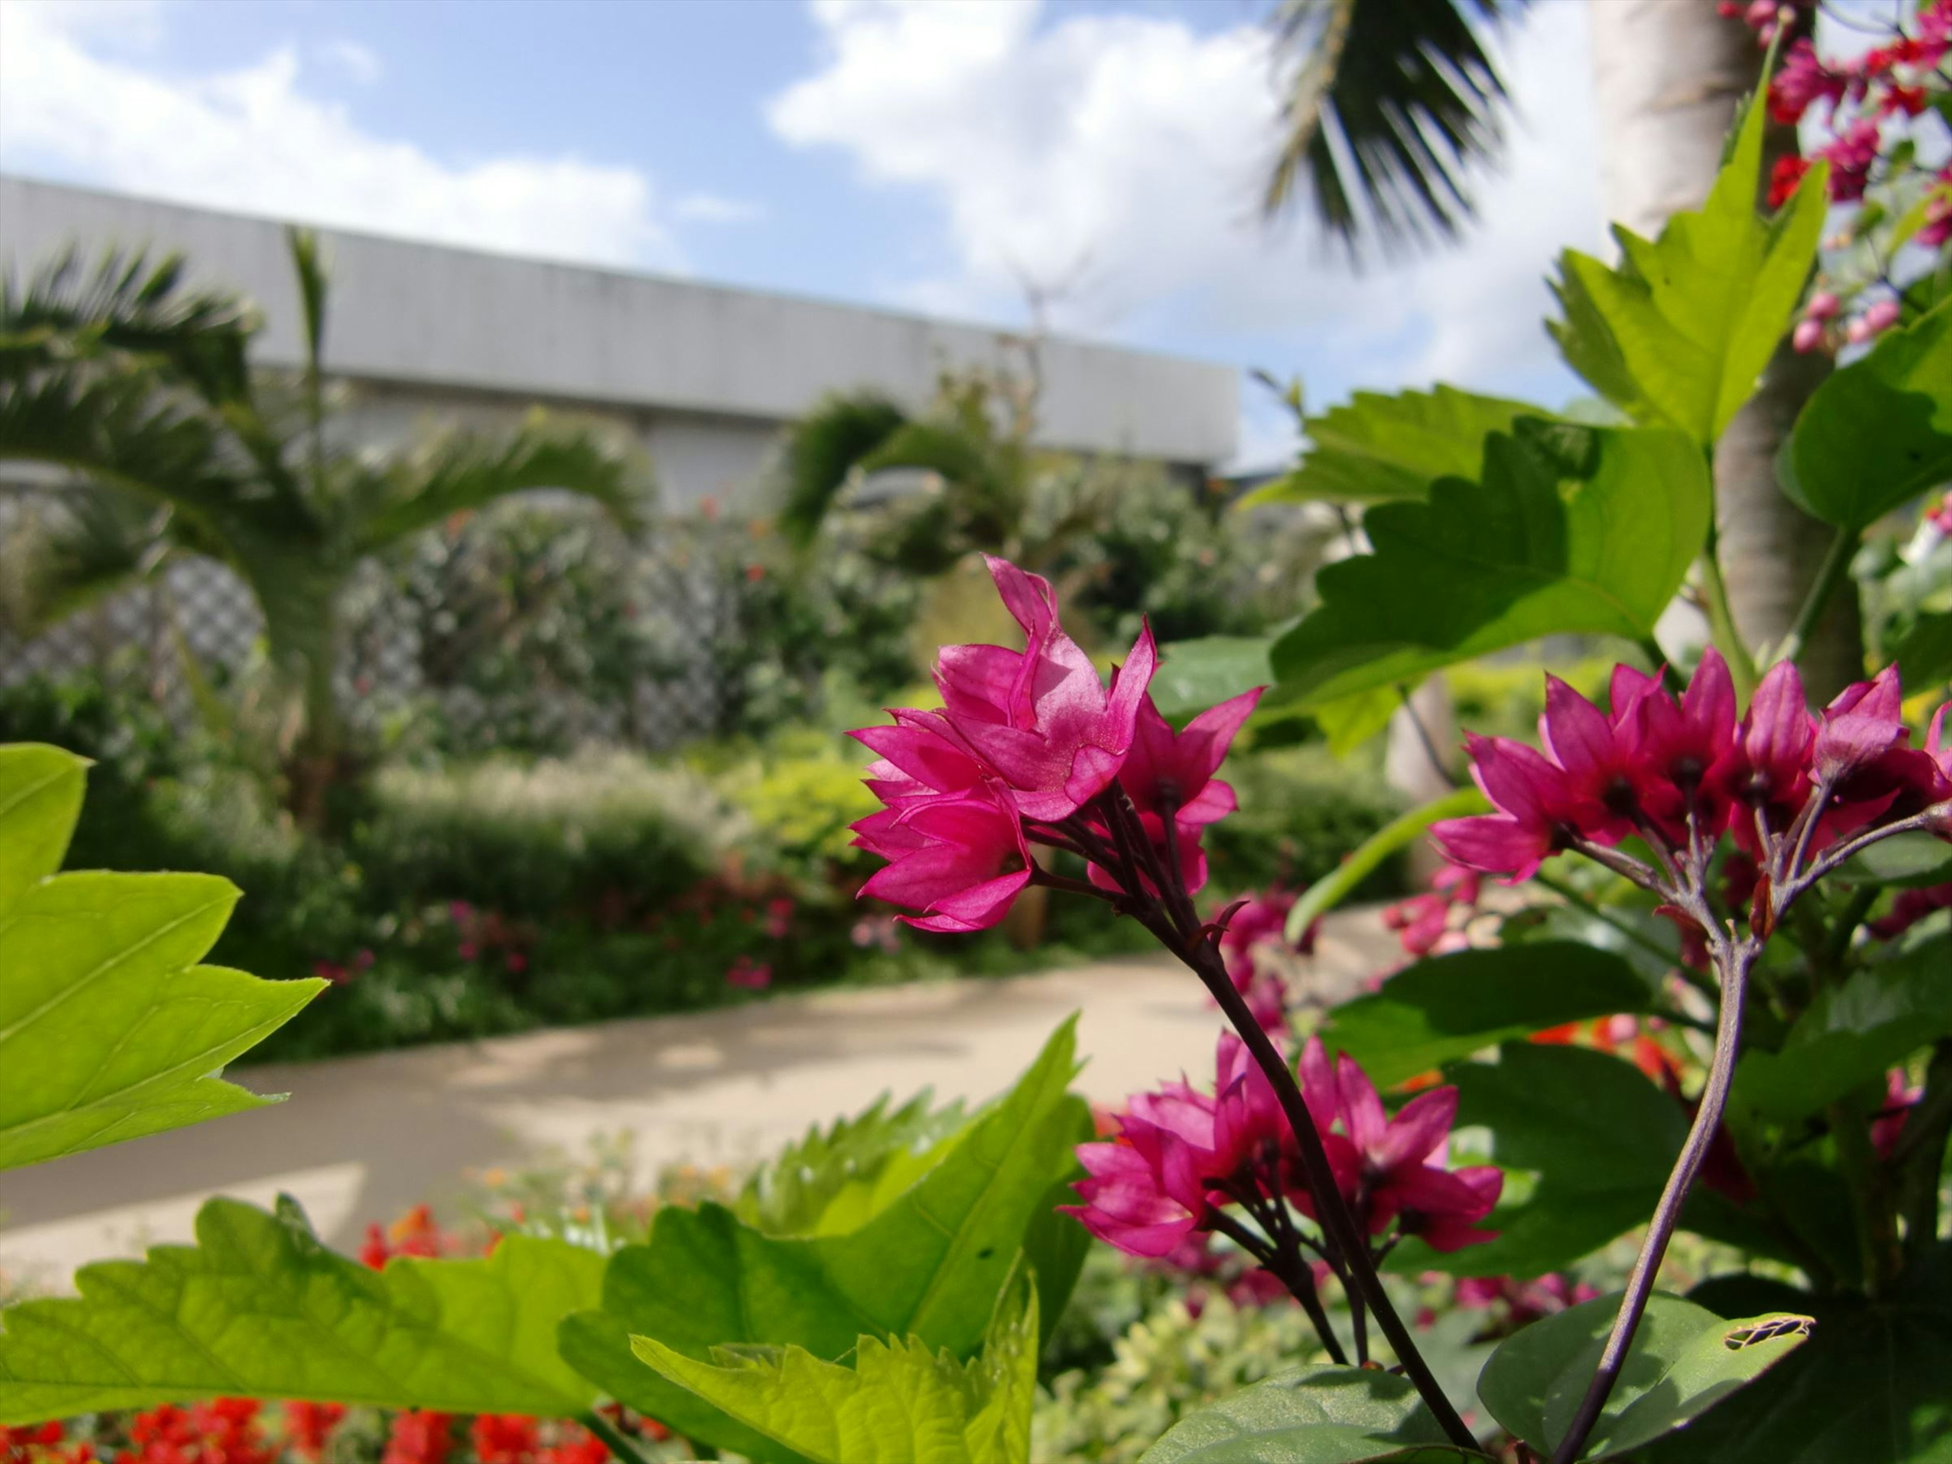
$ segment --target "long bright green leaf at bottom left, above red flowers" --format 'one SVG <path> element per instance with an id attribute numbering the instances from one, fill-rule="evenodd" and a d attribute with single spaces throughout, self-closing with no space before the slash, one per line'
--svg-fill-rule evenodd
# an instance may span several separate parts
<path id="1" fill-rule="evenodd" d="M 78 1298 L 0 1312 L 0 1423 L 215 1396 L 568 1417 L 595 1390 L 556 1355 L 556 1322 L 601 1275 L 595 1251 L 533 1236 L 381 1273 L 320 1245 L 291 1199 L 217 1199 L 195 1247 L 98 1261 Z"/>

